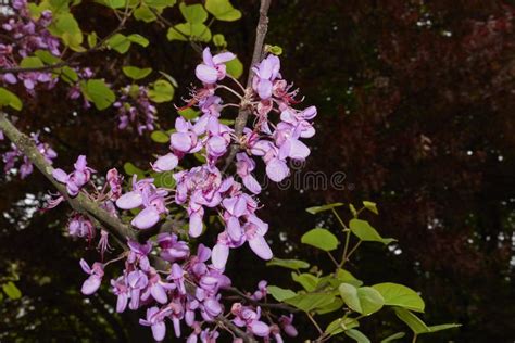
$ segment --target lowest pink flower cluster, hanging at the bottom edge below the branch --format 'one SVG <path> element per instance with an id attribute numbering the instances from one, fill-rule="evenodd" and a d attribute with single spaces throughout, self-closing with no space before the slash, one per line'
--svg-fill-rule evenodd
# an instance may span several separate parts
<path id="1" fill-rule="evenodd" d="M 188 244 L 173 233 L 159 234 L 155 245 L 150 241 L 145 244 L 128 241 L 128 246 L 129 252 L 124 254 L 123 274 L 111 280 L 112 291 L 117 296 L 116 312 L 123 313 L 127 307 L 133 310 L 147 307 L 146 318 L 139 322 L 151 328 L 156 341 L 164 339 L 165 321 L 168 319 L 177 338 L 183 334 L 184 321 L 191 329 L 187 342 L 197 342 L 199 338 L 202 342 L 215 342 L 219 334 L 216 329 L 202 327 L 215 322 L 224 313 L 221 291 L 229 289 L 231 281 L 218 268 L 208 264 L 211 250 L 199 244 L 197 254 L 191 254 Z M 158 249 L 160 257 L 171 264 L 165 276 L 151 266 L 149 254 L 153 249 Z M 81 288 L 83 294 L 90 295 L 99 289 L 105 265 L 96 262 L 89 267 L 84 259 L 80 261 L 83 270 L 88 275 Z M 261 301 L 265 296 L 266 282 L 261 281 L 251 297 Z M 288 335 L 297 335 L 291 316 L 279 318 L 279 325 L 268 325 L 260 319 L 259 306 L 243 306 L 240 303 L 233 304 L 230 314 L 236 326 L 256 336 L 273 336 L 282 342 L 279 326 Z"/>

